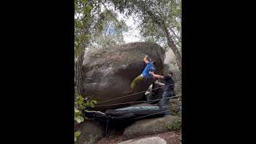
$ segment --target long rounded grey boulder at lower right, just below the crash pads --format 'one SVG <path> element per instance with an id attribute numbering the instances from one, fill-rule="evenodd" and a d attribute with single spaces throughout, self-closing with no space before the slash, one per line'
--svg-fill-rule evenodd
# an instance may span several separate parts
<path id="1" fill-rule="evenodd" d="M 172 115 L 162 118 L 140 120 L 126 127 L 123 133 L 123 140 L 136 138 L 138 136 L 159 134 L 170 130 L 180 130 L 181 122 L 181 118 Z"/>

